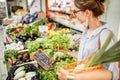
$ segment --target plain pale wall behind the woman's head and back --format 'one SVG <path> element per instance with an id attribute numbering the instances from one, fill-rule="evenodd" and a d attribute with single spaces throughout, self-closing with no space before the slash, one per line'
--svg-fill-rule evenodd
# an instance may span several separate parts
<path id="1" fill-rule="evenodd" d="M 120 24 L 120 0 L 108 0 L 107 20 L 110 28 L 118 36 Z"/>

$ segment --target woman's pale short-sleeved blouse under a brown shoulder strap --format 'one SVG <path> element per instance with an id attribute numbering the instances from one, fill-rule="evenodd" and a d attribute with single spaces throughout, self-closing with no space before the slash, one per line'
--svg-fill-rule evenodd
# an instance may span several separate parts
<path id="1" fill-rule="evenodd" d="M 100 35 L 100 43 L 101 46 L 104 44 L 105 40 L 107 39 L 110 29 L 107 27 L 108 25 L 104 23 L 103 26 L 97 28 L 92 32 L 89 37 L 86 37 L 88 29 L 86 28 L 85 31 L 82 33 L 81 40 L 80 40 L 80 47 L 78 53 L 78 60 L 85 60 L 91 56 L 92 53 L 98 50 L 98 36 Z M 106 28 L 106 29 L 104 29 Z M 104 30 L 102 30 L 104 29 Z M 102 30 L 102 31 L 101 31 Z M 115 43 L 115 36 L 113 37 L 112 41 L 110 42 L 108 48 Z M 113 73 L 113 80 L 118 80 L 119 78 L 119 69 L 117 63 L 110 63 L 105 64 L 104 68 L 112 71 Z"/>

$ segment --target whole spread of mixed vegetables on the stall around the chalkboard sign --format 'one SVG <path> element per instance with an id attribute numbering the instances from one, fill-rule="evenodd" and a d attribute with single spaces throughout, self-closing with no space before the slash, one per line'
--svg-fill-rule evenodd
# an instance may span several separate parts
<path id="1" fill-rule="evenodd" d="M 75 41 L 75 38 L 79 38 L 77 34 L 72 34 L 70 29 L 67 28 L 52 28 L 50 23 L 47 23 L 47 19 L 37 20 L 26 27 L 23 27 L 20 33 L 14 34 L 10 38 L 12 43 L 6 44 L 5 63 L 8 69 L 7 80 L 58 80 L 56 71 L 63 65 L 75 62 L 76 59 L 69 56 L 69 51 L 77 52 L 79 41 Z M 50 28 L 47 35 L 43 38 L 39 32 L 39 25 L 49 25 Z M 10 30 L 13 29 L 13 30 Z M 9 34 L 14 32 L 14 27 L 7 29 Z M 27 49 L 28 52 L 20 52 Z M 25 66 L 19 66 L 33 61 L 33 55 L 41 49 L 50 59 L 54 60 L 54 63 L 49 70 L 44 70 L 40 65 L 37 71 L 28 71 Z M 19 67 L 18 67 L 19 66 Z M 35 79 L 33 76 L 40 74 L 40 79 Z"/>

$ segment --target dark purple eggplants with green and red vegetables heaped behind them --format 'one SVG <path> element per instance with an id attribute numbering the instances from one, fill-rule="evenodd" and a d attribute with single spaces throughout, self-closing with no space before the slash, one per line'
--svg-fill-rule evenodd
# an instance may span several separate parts
<path id="1" fill-rule="evenodd" d="M 47 19 L 40 19 L 36 20 L 35 22 L 29 24 L 29 25 L 16 25 L 12 24 L 13 26 L 21 26 L 21 27 L 13 27 L 7 29 L 7 34 L 10 36 L 10 38 L 13 41 L 22 41 L 25 42 L 27 40 L 34 40 L 38 37 L 40 37 L 40 32 L 39 32 L 39 25 L 44 25 L 47 22 Z M 27 37 L 28 36 L 28 37 Z"/>

